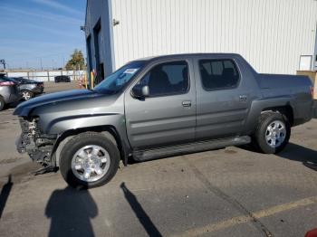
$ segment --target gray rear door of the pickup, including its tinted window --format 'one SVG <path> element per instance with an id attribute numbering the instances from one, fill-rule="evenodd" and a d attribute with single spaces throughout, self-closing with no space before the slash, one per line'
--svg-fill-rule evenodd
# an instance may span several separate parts
<path id="1" fill-rule="evenodd" d="M 197 140 L 242 135 L 250 91 L 234 59 L 197 59 Z"/>

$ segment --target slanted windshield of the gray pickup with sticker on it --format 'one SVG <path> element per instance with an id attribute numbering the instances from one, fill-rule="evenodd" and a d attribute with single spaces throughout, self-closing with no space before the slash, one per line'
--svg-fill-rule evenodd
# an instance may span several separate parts
<path id="1" fill-rule="evenodd" d="M 115 94 L 124 88 L 131 78 L 144 66 L 144 61 L 130 62 L 101 81 L 93 90 Z"/>

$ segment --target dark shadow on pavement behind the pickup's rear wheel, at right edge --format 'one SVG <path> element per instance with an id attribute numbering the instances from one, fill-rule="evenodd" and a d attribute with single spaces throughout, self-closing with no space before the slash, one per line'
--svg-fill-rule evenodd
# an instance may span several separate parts
<path id="1" fill-rule="evenodd" d="M 317 171 L 317 151 L 297 144 L 289 143 L 282 152 L 276 154 L 286 159 L 303 163 L 303 166 Z"/>

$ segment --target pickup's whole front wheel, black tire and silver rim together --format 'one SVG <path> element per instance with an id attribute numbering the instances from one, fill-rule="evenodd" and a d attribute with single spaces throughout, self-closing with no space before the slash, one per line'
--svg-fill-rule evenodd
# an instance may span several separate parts
<path id="1" fill-rule="evenodd" d="M 85 132 L 72 137 L 62 148 L 60 169 L 72 187 L 105 185 L 116 174 L 120 162 L 118 147 L 109 137 Z"/>

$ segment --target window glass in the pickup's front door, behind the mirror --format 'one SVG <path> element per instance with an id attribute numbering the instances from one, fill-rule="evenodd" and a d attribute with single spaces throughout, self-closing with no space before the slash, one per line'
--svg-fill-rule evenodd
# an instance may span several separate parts
<path id="1" fill-rule="evenodd" d="M 166 62 L 152 68 L 136 86 L 149 86 L 149 97 L 157 97 L 186 93 L 188 81 L 187 62 Z"/>

